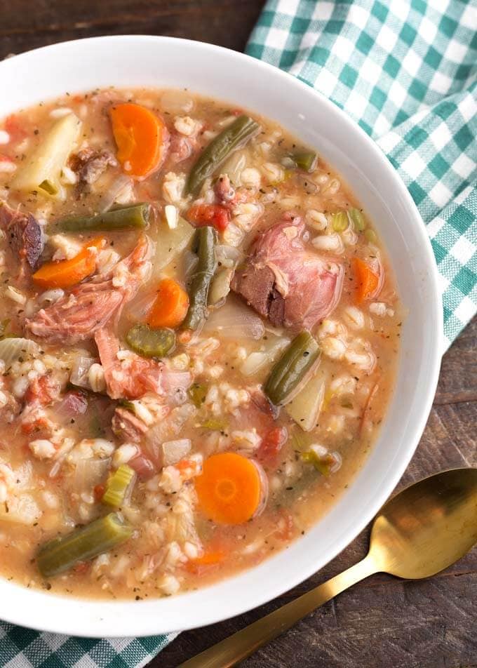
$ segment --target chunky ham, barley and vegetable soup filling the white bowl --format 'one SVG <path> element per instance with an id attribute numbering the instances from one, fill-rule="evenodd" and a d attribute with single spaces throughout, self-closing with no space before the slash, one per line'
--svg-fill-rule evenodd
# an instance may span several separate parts
<path id="1" fill-rule="evenodd" d="M 1 573 L 140 600 L 287 547 L 394 384 L 402 309 L 354 194 L 189 91 L 66 94 L 0 128 Z"/>

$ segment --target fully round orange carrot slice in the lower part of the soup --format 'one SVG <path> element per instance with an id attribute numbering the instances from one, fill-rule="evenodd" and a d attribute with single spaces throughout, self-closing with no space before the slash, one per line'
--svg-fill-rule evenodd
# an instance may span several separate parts
<path id="1" fill-rule="evenodd" d="M 242 524 L 260 505 L 262 484 L 255 464 L 236 453 L 212 455 L 195 480 L 199 507 L 218 524 Z"/>

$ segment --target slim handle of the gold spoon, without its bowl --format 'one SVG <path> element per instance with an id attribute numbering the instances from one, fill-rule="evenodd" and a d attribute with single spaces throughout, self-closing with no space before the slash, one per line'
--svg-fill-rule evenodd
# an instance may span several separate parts
<path id="1" fill-rule="evenodd" d="M 377 568 L 368 554 L 365 559 L 344 570 L 340 575 L 335 575 L 328 582 L 323 582 L 307 594 L 299 596 L 295 601 L 286 603 L 273 613 L 265 615 L 253 624 L 248 624 L 245 629 L 237 631 L 220 643 L 192 657 L 181 664 L 181 668 L 230 668 L 289 629 L 312 610 L 319 608 L 333 596 L 340 594 L 344 589 L 372 573 L 377 573 Z"/>

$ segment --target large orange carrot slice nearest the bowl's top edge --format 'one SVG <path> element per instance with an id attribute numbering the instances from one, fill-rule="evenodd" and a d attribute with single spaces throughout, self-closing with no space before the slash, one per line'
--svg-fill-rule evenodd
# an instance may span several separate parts
<path id="1" fill-rule="evenodd" d="M 163 161 L 169 133 L 163 121 L 147 107 L 126 102 L 111 108 L 117 157 L 124 171 L 145 178 Z"/>

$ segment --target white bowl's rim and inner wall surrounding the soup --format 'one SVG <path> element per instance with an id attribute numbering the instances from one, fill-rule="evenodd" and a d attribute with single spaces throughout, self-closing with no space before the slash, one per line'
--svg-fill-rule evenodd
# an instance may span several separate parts
<path id="1" fill-rule="evenodd" d="M 358 535 L 398 483 L 422 435 L 441 361 L 442 310 L 419 213 L 387 158 L 344 112 L 293 76 L 234 51 L 168 37 L 82 39 L 1 62 L 0 81 L 0 118 L 66 91 L 103 86 L 187 87 L 269 116 L 343 175 L 386 244 L 409 309 L 394 399 L 365 465 L 309 533 L 236 577 L 154 601 L 82 601 L 0 579 L 0 618 L 77 636 L 190 629 L 260 606 L 315 573 Z"/>

